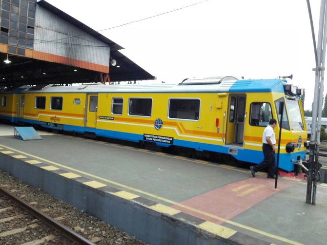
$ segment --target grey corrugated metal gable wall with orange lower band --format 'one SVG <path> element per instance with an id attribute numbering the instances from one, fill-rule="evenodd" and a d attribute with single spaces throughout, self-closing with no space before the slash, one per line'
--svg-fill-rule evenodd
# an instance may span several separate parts
<path id="1" fill-rule="evenodd" d="M 110 47 L 66 19 L 37 6 L 33 58 L 109 72 Z"/>

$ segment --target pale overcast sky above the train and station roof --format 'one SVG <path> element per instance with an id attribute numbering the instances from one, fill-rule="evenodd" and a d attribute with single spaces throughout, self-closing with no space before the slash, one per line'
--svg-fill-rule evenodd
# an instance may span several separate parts
<path id="1" fill-rule="evenodd" d="M 47 1 L 96 31 L 182 8 L 100 33 L 160 82 L 293 74 L 311 110 L 315 61 L 306 0 Z M 320 1 L 310 2 L 318 36 Z"/>

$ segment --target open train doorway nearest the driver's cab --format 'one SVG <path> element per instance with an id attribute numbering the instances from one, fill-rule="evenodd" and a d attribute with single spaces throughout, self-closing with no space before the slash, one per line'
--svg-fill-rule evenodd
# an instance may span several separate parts
<path id="1" fill-rule="evenodd" d="M 226 144 L 243 144 L 245 123 L 245 94 L 231 94 L 228 100 Z"/>

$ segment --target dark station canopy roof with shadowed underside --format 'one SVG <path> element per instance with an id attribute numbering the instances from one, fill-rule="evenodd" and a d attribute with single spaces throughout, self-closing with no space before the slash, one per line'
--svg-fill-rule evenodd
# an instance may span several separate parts
<path id="1" fill-rule="evenodd" d="M 58 18 L 68 21 L 85 33 L 110 46 L 110 59 L 115 59 L 117 64 L 119 64 L 119 66 L 109 66 L 111 82 L 155 79 L 153 75 L 146 72 L 139 65 L 119 52 L 123 48 L 112 40 L 104 37 L 44 0 L 39 1 L 37 4 L 54 13 Z M 10 63 L 4 62 L 7 57 L 11 61 Z M 10 53 L 0 53 L 0 87 L 19 87 L 21 85 L 37 84 L 68 85 L 73 83 L 99 83 L 103 80 L 101 76 L 102 74 L 98 71 Z"/>

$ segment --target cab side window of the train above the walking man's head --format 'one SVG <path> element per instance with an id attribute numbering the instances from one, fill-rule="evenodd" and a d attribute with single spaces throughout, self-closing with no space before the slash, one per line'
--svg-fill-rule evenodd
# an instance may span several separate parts
<path id="1" fill-rule="evenodd" d="M 253 102 L 250 106 L 250 125 L 266 127 L 272 119 L 271 106 L 267 102 Z"/>

